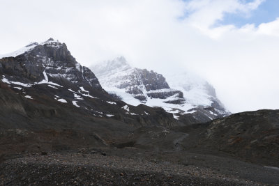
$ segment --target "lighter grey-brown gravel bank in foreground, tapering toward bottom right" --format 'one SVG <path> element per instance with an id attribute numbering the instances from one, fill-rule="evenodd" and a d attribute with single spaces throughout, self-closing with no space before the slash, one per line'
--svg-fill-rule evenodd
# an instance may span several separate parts
<path id="1" fill-rule="evenodd" d="M 53 153 L 6 160 L 1 185 L 261 185 L 213 169 L 105 153 Z"/>

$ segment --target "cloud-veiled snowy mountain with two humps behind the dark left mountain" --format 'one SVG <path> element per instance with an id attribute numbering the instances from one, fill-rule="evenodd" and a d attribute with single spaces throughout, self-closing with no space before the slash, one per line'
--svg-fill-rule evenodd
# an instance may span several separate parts
<path id="1" fill-rule="evenodd" d="M 203 121 L 229 114 L 213 86 L 188 73 L 170 75 L 166 81 L 153 70 L 131 67 L 123 56 L 103 61 L 91 70 L 108 93 L 129 104 L 163 107 L 176 118 L 192 114 L 194 119 L 204 117 Z"/>

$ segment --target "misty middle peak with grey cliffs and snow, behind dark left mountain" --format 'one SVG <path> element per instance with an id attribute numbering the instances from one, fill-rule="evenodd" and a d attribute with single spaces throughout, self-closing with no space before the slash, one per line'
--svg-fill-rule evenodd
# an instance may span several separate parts
<path id="1" fill-rule="evenodd" d="M 141 102 L 149 104 L 152 99 L 160 99 L 165 102 L 184 102 L 183 93 L 169 88 L 163 75 L 152 70 L 132 68 L 123 56 L 113 61 L 100 63 L 100 65 L 92 67 L 92 70 L 100 78 L 105 90 L 113 93 L 114 88 L 119 89 L 124 94 L 119 94 L 119 92 L 116 94 L 123 97 L 123 100 L 126 100 L 128 96 L 130 104 L 140 104 Z M 135 99 L 130 100 L 130 95 Z"/>

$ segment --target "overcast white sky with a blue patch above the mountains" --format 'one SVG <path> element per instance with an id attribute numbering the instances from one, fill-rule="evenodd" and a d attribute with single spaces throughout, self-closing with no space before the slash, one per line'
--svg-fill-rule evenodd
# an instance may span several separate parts
<path id="1" fill-rule="evenodd" d="M 82 65 L 196 72 L 232 112 L 279 109 L 278 0 L 0 0 L 0 54 L 48 38 Z"/>

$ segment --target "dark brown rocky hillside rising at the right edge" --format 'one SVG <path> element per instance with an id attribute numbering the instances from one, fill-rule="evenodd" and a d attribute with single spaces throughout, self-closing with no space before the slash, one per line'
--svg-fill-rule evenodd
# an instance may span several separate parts
<path id="1" fill-rule="evenodd" d="M 204 133 L 205 145 L 279 166 L 279 111 L 259 110 L 212 121 Z"/>

